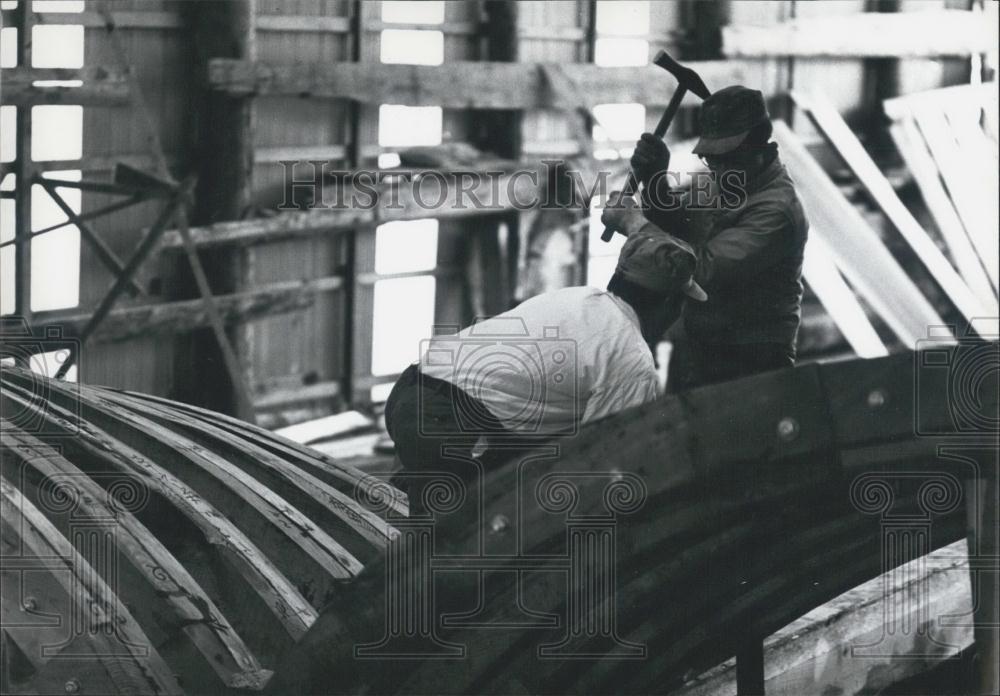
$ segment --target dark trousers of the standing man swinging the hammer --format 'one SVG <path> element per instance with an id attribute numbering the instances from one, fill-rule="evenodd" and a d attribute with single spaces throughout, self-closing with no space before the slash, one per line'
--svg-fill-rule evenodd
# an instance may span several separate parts
<path id="1" fill-rule="evenodd" d="M 674 344 L 668 374 L 669 392 L 687 391 L 795 364 L 795 353 L 782 343 Z"/>

